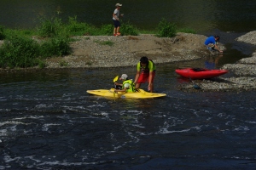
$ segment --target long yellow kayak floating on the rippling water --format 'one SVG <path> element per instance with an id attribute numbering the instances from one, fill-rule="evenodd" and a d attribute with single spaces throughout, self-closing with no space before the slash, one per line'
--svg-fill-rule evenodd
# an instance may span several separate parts
<path id="1" fill-rule="evenodd" d="M 148 93 L 143 89 L 138 89 L 138 91 L 134 93 L 117 92 L 113 94 L 114 88 L 111 88 L 109 90 L 107 89 L 87 90 L 86 92 L 88 94 L 95 94 L 95 95 L 108 97 L 108 98 L 159 98 L 159 97 L 166 96 L 166 94 Z"/>

